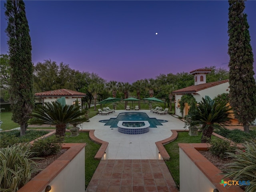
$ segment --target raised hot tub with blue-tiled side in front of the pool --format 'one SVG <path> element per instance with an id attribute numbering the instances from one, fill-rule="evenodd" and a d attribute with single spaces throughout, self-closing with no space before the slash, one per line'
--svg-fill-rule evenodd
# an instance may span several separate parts
<path id="1" fill-rule="evenodd" d="M 124 134 L 143 134 L 149 132 L 149 122 L 148 121 L 119 121 L 118 132 Z"/>

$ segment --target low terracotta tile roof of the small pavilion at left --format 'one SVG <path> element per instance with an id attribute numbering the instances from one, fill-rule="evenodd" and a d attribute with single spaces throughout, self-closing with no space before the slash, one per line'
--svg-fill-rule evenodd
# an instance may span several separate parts
<path id="1" fill-rule="evenodd" d="M 35 93 L 35 96 L 36 97 L 40 97 L 40 96 L 82 96 L 82 97 L 85 97 L 86 94 L 78 92 L 78 91 L 68 90 L 68 89 L 57 89 L 57 90 L 52 90 L 52 91 Z"/>

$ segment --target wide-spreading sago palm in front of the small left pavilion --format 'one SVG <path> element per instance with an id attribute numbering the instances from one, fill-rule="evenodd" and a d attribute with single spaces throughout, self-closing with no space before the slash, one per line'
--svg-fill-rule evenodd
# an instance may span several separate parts
<path id="1" fill-rule="evenodd" d="M 44 105 L 37 105 L 30 116 L 35 117 L 30 120 L 30 124 L 50 124 L 55 125 L 56 135 L 65 136 L 66 124 L 85 122 L 85 110 L 80 110 L 77 105 L 64 105 L 59 102 L 44 102 Z M 83 116 L 83 117 L 81 117 Z"/>

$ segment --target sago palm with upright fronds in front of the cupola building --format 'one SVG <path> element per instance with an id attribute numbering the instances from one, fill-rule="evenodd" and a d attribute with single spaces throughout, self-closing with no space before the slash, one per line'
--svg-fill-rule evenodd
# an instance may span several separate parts
<path id="1" fill-rule="evenodd" d="M 206 143 L 211 139 L 214 128 L 230 123 L 230 108 L 226 106 L 226 102 L 215 102 L 202 98 L 195 110 L 190 112 L 191 126 L 202 125 L 201 142 Z"/>

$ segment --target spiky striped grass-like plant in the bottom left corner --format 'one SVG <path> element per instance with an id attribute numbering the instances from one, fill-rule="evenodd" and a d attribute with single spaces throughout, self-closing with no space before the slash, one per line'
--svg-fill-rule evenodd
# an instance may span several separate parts
<path id="1" fill-rule="evenodd" d="M 32 173 L 38 172 L 31 155 L 29 144 L 16 144 L 0 149 L 1 191 L 16 192 L 30 180 Z"/>

